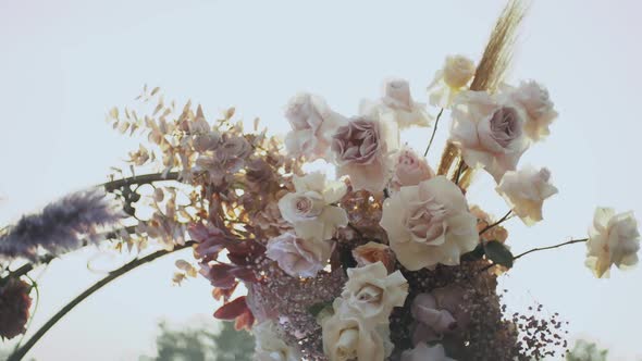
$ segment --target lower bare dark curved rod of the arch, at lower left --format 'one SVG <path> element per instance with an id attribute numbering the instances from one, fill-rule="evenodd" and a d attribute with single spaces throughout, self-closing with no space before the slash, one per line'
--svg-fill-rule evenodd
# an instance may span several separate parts
<path id="1" fill-rule="evenodd" d="M 49 321 L 47 321 L 47 323 L 45 323 L 30 338 L 28 341 L 25 343 L 25 345 L 23 347 L 21 347 L 18 350 L 16 350 L 14 353 L 12 353 L 9 359 L 7 359 L 7 361 L 20 361 L 22 360 L 25 354 L 32 349 L 32 347 L 34 347 L 34 345 L 36 345 L 36 343 L 51 328 L 53 327 L 53 325 L 55 325 L 55 323 L 58 323 L 58 321 L 60 321 L 65 314 L 67 314 L 71 310 L 73 310 L 76 306 L 78 306 L 81 302 L 83 302 L 87 297 L 91 296 L 94 292 L 96 292 L 97 290 L 99 290 L 100 288 L 104 287 L 106 285 L 108 285 L 110 282 L 116 279 L 118 277 L 126 274 L 127 272 L 135 270 L 136 267 L 149 263 L 160 257 L 183 250 L 185 248 L 192 247 L 193 245 L 195 245 L 195 241 L 187 241 L 185 242 L 185 245 L 182 246 L 176 246 L 174 249 L 172 250 L 160 250 L 160 251 L 156 251 L 151 254 L 148 254 L 144 258 L 140 259 L 136 259 L 125 265 L 123 265 L 122 267 L 112 271 L 109 273 L 109 275 L 102 279 L 100 279 L 99 282 L 97 282 L 96 284 L 94 284 L 94 286 L 87 288 L 84 292 L 82 292 L 81 295 L 78 295 L 76 298 L 74 298 L 71 302 L 69 302 L 67 304 L 65 304 L 60 311 L 58 311 L 58 313 L 55 313 L 51 319 L 49 319 Z"/>

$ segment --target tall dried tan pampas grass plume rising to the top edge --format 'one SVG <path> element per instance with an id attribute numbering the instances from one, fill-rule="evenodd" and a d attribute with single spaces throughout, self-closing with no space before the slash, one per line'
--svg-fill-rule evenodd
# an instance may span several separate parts
<path id="1" fill-rule="evenodd" d="M 491 39 L 484 49 L 482 59 L 477 65 L 470 90 L 494 91 L 502 84 L 513 59 L 513 45 L 517 38 L 517 29 L 526 15 L 527 8 L 526 0 L 510 0 L 504 8 L 502 15 L 497 18 L 495 28 L 493 28 L 493 33 L 491 33 Z M 437 174 L 457 174 L 457 170 L 452 170 L 452 167 L 458 157 L 459 149 L 448 142 L 442 153 Z M 472 170 L 467 170 L 465 173 L 467 183 L 470 182 L 471 172 Z"/>

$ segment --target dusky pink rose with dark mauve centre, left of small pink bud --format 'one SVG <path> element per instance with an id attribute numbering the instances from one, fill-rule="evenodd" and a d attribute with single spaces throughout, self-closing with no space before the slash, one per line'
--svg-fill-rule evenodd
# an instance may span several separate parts
<path id="1" fill-rule="evenodd" d="M 354 117 L 333 136 L 337 175 L 348 175 L 355 190 L 383 191 L 386 183 L 387 145 L 379 122 Z"/>

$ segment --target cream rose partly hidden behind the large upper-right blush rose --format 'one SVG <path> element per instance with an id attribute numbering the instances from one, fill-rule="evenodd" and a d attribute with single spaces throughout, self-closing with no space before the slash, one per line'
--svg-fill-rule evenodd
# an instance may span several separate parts
<path id="1" fill-rule="evenodd" d="M 536 82 L 521 82 L 513 89 L 510 97 L 520 103 L 527 114 L 524 132 L 533 141 L 542 140 L 551 134 L 548 126 L 557 117 L 548 90 Z"/>

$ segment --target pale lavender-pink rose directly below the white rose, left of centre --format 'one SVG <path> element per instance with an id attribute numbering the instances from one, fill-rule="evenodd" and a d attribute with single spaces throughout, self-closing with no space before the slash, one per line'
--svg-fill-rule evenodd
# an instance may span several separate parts
<path id="1" fill-rule="evenodd" d="M 293 277 L 314 277 L 332 253 L 332 244 L 321 239 L 303 239 L 284 233 L 270 239 L 266 256 Z"/>

